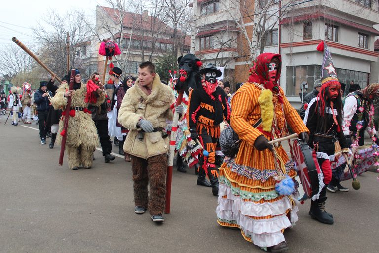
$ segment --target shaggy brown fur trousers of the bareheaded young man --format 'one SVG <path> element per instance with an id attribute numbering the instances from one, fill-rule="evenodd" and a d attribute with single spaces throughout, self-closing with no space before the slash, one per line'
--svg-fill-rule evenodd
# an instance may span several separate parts
<path id="1" fill-rule="evenodd" d="M 134 204 L 147 207 L 150 215 L 163 214 L 166 195 L 167 155 L 148 159 L 131 156 Z M 150 192 L 148 193 L 148 184 Z"/>

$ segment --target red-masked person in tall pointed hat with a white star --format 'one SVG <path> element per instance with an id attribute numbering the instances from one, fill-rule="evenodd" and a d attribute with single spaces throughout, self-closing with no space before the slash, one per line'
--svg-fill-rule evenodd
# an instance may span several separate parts
<path id="1" fill-rule="evenodd" d="M 336 140 L 340 144 L 342 153 L 348 153 L 349 146 L 342 129 L 341 84 L 337 79 L 336 69 L 324 41 L 317 46 L 317 50 L 324 52 L 321 66 L 322 85 L 317 97 L 309 102 L 304 123 L 310 131 L 308 145 L 317 154 L 323 181 L 320 182 L 319 193 L 312 197 L 309 215 L 322 223 L 333 224 L 333 216 L 325 211 L 326 186 L 332 179 L 330 161 L 334 160 Z"/>

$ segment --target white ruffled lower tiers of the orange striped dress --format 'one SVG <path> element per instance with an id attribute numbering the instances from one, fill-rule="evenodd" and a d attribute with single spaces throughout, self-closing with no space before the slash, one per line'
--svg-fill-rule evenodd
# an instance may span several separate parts
<path id="1" fill-rule="evenodd" d="M 275 202 L 255 203 L 234 195 L 229 186 L 220 184 L 216 208 L 218 223 L 238 227 L 246 240 L 259 247 L 277 245 L 285 241 L 283 230 L 293 226 L 298 220 L 298 207 L 290 198 L 292 197 L 286 196 Z M 296 200 L 296 197 L 293 196 L 293 199 Z M 269 215 L 274 217 L 257 219 Z"/>

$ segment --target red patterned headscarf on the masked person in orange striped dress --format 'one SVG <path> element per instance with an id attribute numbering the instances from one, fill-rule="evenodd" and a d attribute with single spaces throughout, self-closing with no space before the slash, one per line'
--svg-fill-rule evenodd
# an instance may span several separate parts
<path id="1" fill-rule="evenodd" d="M 275 81 L 269 81 L 269 66 L 273 61 L 278 65 L 278 70 L 276 74 Z M 253 67 L 249 70 L 249 82 L 258 83 L 265 87 L 265 89 L 271 90 L 273 93 L 279 94 L 278 80 L 280 77 L 280 72 L 282 69 L 282 56 L 275 53 L 263 53 L 258 55 L 258 57 L 253 62 Z M 283 98 L 278 96 L 279 102 L 283 103 Z"/>

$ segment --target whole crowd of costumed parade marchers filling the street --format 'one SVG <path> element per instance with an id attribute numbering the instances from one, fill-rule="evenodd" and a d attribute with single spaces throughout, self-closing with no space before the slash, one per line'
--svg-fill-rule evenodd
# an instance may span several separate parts
<path id="1" fill-rule="evenodd" d="M 291 106 L 278 84 L 282 62 L 281 56 L 274 53 L 259 55 L 248 80 L 237 83 L 233 94 L 229 81 L 218 80 L 222 73 L 214 64 L 200 69 L 201 62 L 190 55 L 179 58 L 180 78 L 171 76 L 168 85 L 161 82 L 152 62 L 139 65 L 137 79 L 122 79 L 122 70 L 113 67 L 107 84 L 101 82 L 97 72 L 84 83 L 76 70 L 72 90 L 70 73 L 57 85 L 53 76 L 33 93 L 26 88 L 20 96 L 12 88 L 7 106 L 15 126 L 20 108 L 25 124 L 38 115 L 41 144 L 46 144 L 50 135 L 50 148 L 54 148 L 55 141 L 61 143 L 66 137 L 72 170 L 92 167 L 99 141 L 105 162 L 114 160 L 110 136 L 115 136 L 113 142 L 118 144 L 119 154 L 131 162 L 134 212 L 149 211 L 154 222 L 164 221 L 171 144 L 168 126 L 173 113 L 178 113 L 178 171 L 186 172 L 187 163 L 196 169 L 197 184 L 212 188 L 212 194 L 218 196 L 216 213 L 221 226 L 239 228 L 246 240 L 279 253 L 288 249 L 284 229 L 298 220 L 297 172 L 283 146 L 269 141 L 295 132 L 309 145 L 320 168 L 319 191 L 309 196 L 309 215 L 325 224 L 334 223 L 333 215 L 325 211 L 326 191 L 349 190 L 332 172 L 337 143 L 346 160 L 351 147 L 363 145 L 365 129 L 379 144 L 372 124 L 372 103 L 379 97 L 379 84 L 364 89 L 351 84 L 350 93 L 342 100 L 345 85 L 338 80 L 329 49 L 323 43 L 317 49 L 324 53 L 321 78 L 314 82 L 314 90 L 304 97 L 299 111 Z M 193 62 L 187 64 L 186 60 Z M 182 103 L 175 105 L 178 91 L 185 94 Z M 1 95 L 2 111 L 5 100 Z M 33 112 L 34 105 L 37 113 Z M 221 126 L 238 136 L 233 155 L 225 156 L 221 151 Z"/>

